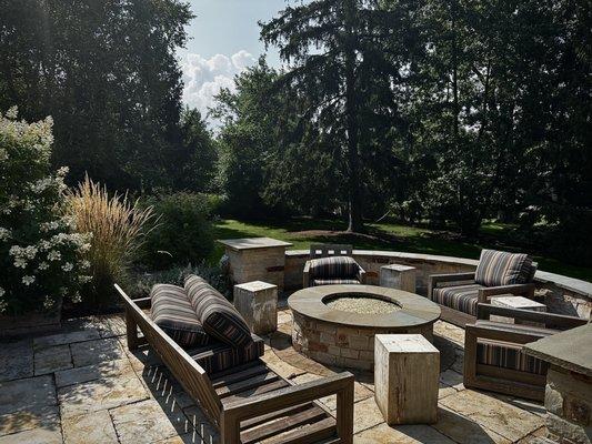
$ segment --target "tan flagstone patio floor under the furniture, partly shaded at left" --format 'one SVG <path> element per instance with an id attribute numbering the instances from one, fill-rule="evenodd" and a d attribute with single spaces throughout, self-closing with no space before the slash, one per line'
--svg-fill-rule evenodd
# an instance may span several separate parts
<path id="1" fill-rule="evenodd" d="M 291 314 L 278 315 L 265 362 L 297 383 L 331 374 L 291 346 Z M 63 331 L 0 343 L 0 444 L 215 443 L 215 430 L 150 352 L 130 353 L 121 315 L 69 321 Z M 462 329 L 438 321 L 439 421 L 388 426 L 372 375 L 355 373 L 355 443 L 528 444 L 544 436 L 542 405 L 462 384 Z M 334 410 L 335 398 L 322 402 Z"/>

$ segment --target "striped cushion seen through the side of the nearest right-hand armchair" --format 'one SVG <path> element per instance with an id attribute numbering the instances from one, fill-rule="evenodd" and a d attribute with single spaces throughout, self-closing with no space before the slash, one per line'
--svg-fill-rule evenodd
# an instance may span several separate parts
<path id="1" fill-rule="evenodd" d="M 485 340 L 476 343 L 476 362 L 540 375 L 545 375 L 549 367 L 544 361 L 523 353 L 522 345 Z"/>

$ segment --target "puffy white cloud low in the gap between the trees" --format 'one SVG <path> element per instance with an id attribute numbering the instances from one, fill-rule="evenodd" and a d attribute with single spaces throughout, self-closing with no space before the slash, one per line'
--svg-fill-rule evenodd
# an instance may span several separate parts
<path id="1" fill-rule="evenodd" d="M 231 57 L 215 54 L 205 59 L 200 54 L 189 53 L 181 60 L 183 71 L 183 102 L 197 108 L 205 117 L 208 108 L 213 105 L 213 97 L 222 88 L 234 90 L 234 75 L 254 64 L 257 59 L 241 50 Z"/>

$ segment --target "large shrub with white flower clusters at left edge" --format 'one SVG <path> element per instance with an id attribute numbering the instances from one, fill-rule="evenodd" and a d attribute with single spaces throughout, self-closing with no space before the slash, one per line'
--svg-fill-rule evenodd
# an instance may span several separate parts
<path id="1" fill-rule="evenodd" d="M 48 312 L 77 302 L 90 278 L 88 234 L 66 215 L 66 169 L 50 165 L 52 120 L 0 113 L 0 314 Z"/>

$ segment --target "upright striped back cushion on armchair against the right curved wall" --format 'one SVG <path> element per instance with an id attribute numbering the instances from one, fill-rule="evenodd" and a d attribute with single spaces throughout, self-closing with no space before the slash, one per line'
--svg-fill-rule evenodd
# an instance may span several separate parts
<path id="1" fill-rule="evenodd" d="M 483 250 L 475 272 L 475 282 L 485 286 L 526 283 L 532 274 L 532 259 L 528 254 Z"/>

